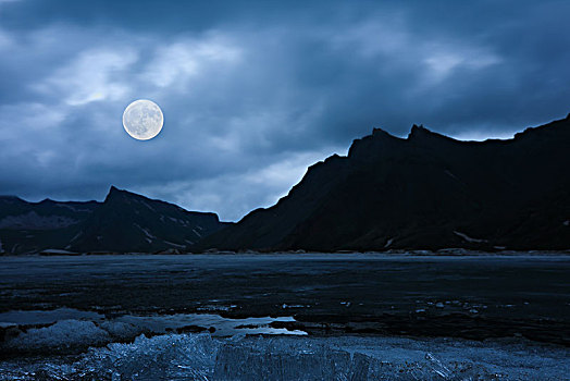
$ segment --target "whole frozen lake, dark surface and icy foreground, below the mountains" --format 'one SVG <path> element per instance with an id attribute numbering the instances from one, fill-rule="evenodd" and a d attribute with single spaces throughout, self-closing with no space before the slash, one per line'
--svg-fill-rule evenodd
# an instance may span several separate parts
<path id="1" fill-rule="evenodd" d="M 569 279 L 565 255 L 2 257 L 0 374 L 561 379 Z"/>

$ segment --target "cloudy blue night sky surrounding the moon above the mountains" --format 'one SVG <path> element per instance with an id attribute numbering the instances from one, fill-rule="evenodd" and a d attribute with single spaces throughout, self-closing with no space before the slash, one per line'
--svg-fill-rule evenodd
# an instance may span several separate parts
<path id="1" fill-rule="evenodd" d="M 0 0 L 0 194 L 114 184 L 237 220 L 382 127 L 510 137 L 570 112 L 570 1 Z M 164 128 L 131 138 L 152 99 Z"/>

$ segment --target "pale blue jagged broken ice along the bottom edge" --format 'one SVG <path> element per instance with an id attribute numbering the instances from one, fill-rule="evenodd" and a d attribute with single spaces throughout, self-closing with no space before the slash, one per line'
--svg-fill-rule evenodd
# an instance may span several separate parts
<path id="1" fill-rule="evenodd" d="M 523 341 L 208 333 L 0 362 L 0 380 L 562 380 L 569 371 L 567 348 Z"/>

